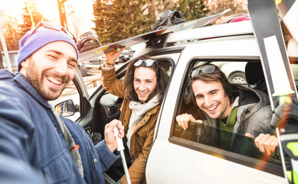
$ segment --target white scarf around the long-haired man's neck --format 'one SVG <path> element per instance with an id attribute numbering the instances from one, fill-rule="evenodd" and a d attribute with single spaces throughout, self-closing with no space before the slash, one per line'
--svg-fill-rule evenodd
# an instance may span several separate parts
<path id="1" fill-rule="evenodd" d="M 142 116 L 147 113 L 150 109 L 159 104 L 158 96 L 155 95 L 147 103 L 141 103 L 139 101 L 130 101 L 129 107 L 132 110 L 130 115 L 129 130 L 127 131 L 127 146 L 130 149 L 130 137 L 138 122 L 141 120 Z"/>

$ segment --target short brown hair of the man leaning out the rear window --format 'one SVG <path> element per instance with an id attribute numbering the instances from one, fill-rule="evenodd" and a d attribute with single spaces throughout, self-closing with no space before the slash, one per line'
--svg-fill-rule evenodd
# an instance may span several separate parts
<path id="1" fill-rule="evenodd" d="M 194 96 L 194 92 L 192 90 L 192 83 L 196 80 L 200 80 L 205 83 L 220 82 L 223 86 L 224 95 L 228 96 L 230 104 L 233 103 L 236 97 L 239 95 L 236 90 L 236 86 L 234 84 L 229 83 L 225 74 L 222 72 L 222 70 L 219 69 L 219 67 L 215 67 L 215 70 L 212 73 L 203 73 L 202 71 L 200 71 L 198 75 L 189 79 L 189 82 L 187 84 L 187 90 L 188 90 L 188 96 L 186 98 L 187 103 L 193 102 L 194 104 L 197 104 Z"/>

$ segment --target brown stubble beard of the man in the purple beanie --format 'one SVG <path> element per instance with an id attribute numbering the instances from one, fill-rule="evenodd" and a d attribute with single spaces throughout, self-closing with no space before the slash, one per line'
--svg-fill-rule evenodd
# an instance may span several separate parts
<path id="1" fill-rule="evenodd" d="M 38 76 L 38 71 L 35 63 L 29 59 L 28 61 L 28 69 L 26 71 L 26 79 L 29 81 L 29 83 L 37 90 L 37 93 L 46 101 L 50 100 L 56 100 L 61 95 L 63 87 L 59 93 L 56 94 L 56 92 L 52 91 L 46 91 L 46 86 L 43 86 L 43 77 L 45 77 L 44 72 L 42 71 L 40 76 Z M 65 77 L 63 78 L 63 82 L 65 81 Z M 56 95 L 55 95 L 56 94 Z M 55 96 L 54 96 L 55 95 Z"/>

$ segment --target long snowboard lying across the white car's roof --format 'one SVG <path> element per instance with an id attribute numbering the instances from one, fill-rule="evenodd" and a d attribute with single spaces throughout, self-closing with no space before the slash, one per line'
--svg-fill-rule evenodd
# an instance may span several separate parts
<path id="1" fill-rule="evenodd" d="M 227 9 L 225 11 L 223 11 L 220 14 L 217 15 L 213 15 L 213 16 L 209 16 L 209 17 L 204 17 L 204 18 L 199 18 L 199 19 L 195 19 L 195 20 L 190 20 L 181 24 L 177 24 L 177 25 L 173 25 L 167 28 L 163 28 L 160 30 L 156 30 L 156 31 L 152 31 L 149 33 L 144 33 L 144 34 L 140 34 L 137 36 L 133 36 L 131 38 L 127 38 L 121 41 L 117 41 L 102 47 L 99 47 L 97 49 L 93 49 L 90 51 L 86 51 L 84 53 L 80 53 L 79 54 L 79 59 L 78 62 L 85 62 L 85 61 L 89 61 L 90 59 L 96 58 L 96 57 L 100 57 L 101 55 L 105 54 L 105 53 L 110 53 L 113 52 L 119 48 L 122 47 L 131 47 L 133 45 L 137 45 L 140 43 L 144 43 L 144 42 L 148 42 L 149 40 L 156 38 L 160 35 L 163 35 L 165 33 L 175 33 L 175 32 L 180 32 L 180 31 L 184 31 L 184 30 L 190 30 L 190 29 L 195 29 L 195 28 L 200 28 L 203 27 L 209 23 L 211 23 L 212 21 L 214 21 L 215 19 L 217 19 L 218 17 L 223 16 L 225 13 L 227 13 L 228 11 L 230 11 L 231 9 Z"/>

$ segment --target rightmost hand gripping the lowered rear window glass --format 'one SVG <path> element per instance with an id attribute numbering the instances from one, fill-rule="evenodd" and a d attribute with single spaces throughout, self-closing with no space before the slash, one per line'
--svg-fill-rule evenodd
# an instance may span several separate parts
<path id="1" fill-rule="evenodd" d="M 245 136 L 255 138 L 252 134 L 246 133 Z M 263 153 L 271 155 L 276 147 L 279 146 L 278 138 L 270 134 L 259 134 L 255 138 L 256 147 Z"/>

